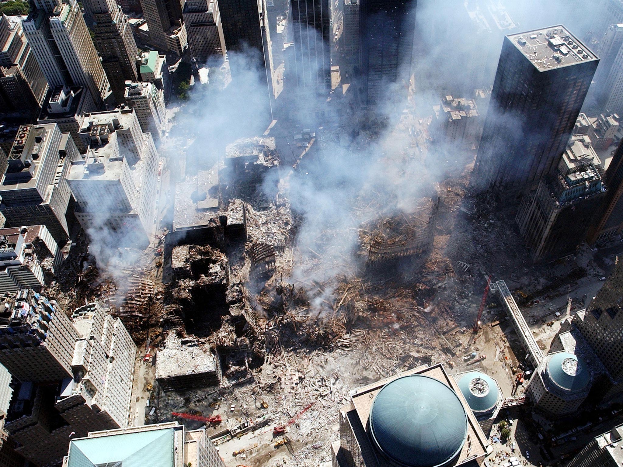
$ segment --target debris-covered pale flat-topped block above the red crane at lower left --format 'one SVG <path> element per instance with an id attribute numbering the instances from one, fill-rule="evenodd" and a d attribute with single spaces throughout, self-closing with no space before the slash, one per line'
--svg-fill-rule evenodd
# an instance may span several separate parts
<path id="1" fill-rule="evenodd" d="M 221 362 L 216 352 L 171 331 L 156 354 L 156 380 L 165 391 L 217 386 Z"/>

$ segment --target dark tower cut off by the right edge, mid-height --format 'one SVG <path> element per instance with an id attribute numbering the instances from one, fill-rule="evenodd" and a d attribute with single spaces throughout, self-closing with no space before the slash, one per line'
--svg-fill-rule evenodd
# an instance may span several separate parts
<path id="1" fill-rule="evenodd" d="M 623 140 L 612 156 L 604 181 L 608 192 L 587 234 L 589 243 L 612 238 L 623 229 Z"/>

